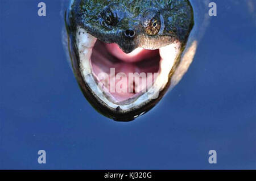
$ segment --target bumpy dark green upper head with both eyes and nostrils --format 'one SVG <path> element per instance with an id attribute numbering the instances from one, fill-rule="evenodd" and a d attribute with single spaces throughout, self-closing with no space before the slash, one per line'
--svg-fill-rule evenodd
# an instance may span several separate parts
<path id="1" fill-rule="evenodd" d="M 71 15 L 76 25 L 125 53 L 185 43 L 193 27 L 188 0 L 75 0 Z"/>

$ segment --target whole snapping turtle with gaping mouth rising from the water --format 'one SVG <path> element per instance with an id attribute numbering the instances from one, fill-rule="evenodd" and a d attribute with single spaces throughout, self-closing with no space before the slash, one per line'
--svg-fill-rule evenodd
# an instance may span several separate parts
<path id="1" fill-rule="evenodd" d="M 154 107 L 193 60 L 205 24 L 200 5 L 188 0 L 70 1 L 68 52 L 89 103 L 117 121 L 134 120 Z"/>

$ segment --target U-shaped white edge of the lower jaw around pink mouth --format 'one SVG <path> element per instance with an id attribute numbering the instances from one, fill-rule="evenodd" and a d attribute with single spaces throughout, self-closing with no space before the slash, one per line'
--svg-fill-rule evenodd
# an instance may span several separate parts
<path id="1" fill-rule="evenodd" d="M 107 99 L 102 90 L 98 88 L 98 85 L 93 78 L 90 57 L 92 55 L 92 49 L 96 43 L 96 40 L 96 37 L 87 33 L 84 28 L 77 27 L 76 43 L 79 50 L 80 71 L 82 73 L 82 77 L 84 78 L 84 81 L 89 85 L 90 89 L 92 89 L 94 95 L 98 97 L 98 99 L 101 99 L 109 107 L 117 108 L 119 106 L 122 110 L 129 110 L 130 108 L 143 104 L 148 99 L 158 98 L 159 92 L 164 88 L 164 86 L 166 86 L 166 83 L 168 82 L 168 75 L 175 64 L 175 61 L 179 57 L 181 48 L 179 42 L 160 48 L 160 71 L 154 85 L 152 85 L 152 87 L 146 93 L 139 96 L 139 98 L 134 102 L 120 105 Z"/>

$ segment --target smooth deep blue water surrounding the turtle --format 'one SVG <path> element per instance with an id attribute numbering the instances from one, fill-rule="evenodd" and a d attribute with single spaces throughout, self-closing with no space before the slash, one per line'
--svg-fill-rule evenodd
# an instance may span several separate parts
<path id="1" fill-rule="evenodd" d="M 0 0 L 0 169 L 256 169 L 254 1 L 253 11 L 214 1 L 187 74 L 129 123 L 85 100 L 61 43 L 61 2 L 44 0 L 46 17 L 39 2 Z"/>

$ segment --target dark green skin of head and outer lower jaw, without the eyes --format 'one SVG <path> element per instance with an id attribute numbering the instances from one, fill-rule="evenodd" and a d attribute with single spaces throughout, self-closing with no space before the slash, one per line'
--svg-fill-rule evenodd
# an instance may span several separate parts
<path id="1" fill-rule="evenodd" d="M 101 12 L 113 6 L 112 10 L 118 15 L 118 23 L 111 29 L 101 25 L 99 15 Z M 148 36 L 142 27 L 142 17 L 145 12 L 161 17 L 161 30 L 155 36 Z M 68 32 L 69 54 L 74 74 L 80 89 L 88 102 L 102 115 L 117 121 L 131 121 L 134 116 L 141 115 L 154 107 L 170 86 L 170 79 L 179 64 L 181 53 L 187 43 L 189 33 L 193 27 L 193 9 L 188 0 L 74 0 L 71 9 L 66 12 L 65 25 Z M 94 92 L 84 81 L 80 71 L 79 52 L 76 45 L 76 30 L 81 26 L 91 35 L 105 43 L 117 43 L 124 52 L 129 53 L 144 41 L 156 44 L 158 48 L 180 41 L 181 50 L 174 68 L 169 74 L 169 81 L 163 90 L 159 92 L 158 99 L 149 99 L 139 107 L 128 111 L 105 106 L 101 100 L 94 96 Z M 125 39 L 123 31 L 133 28 L 133 39 Z"/>

